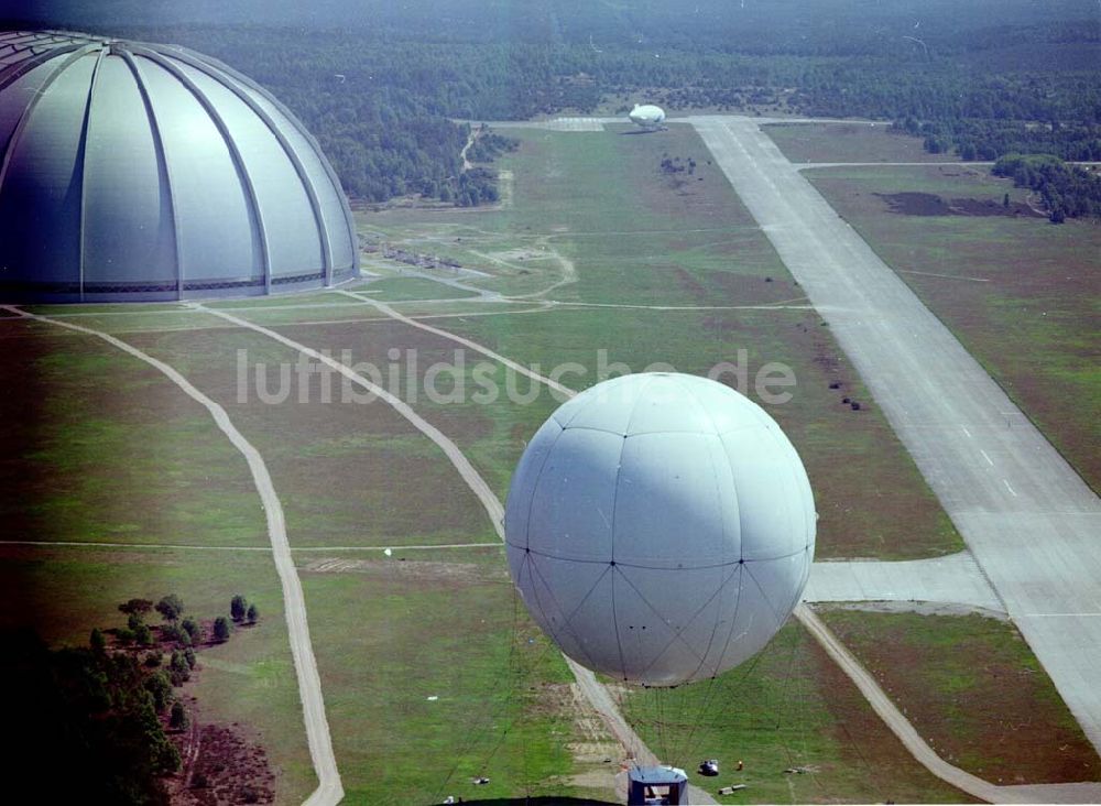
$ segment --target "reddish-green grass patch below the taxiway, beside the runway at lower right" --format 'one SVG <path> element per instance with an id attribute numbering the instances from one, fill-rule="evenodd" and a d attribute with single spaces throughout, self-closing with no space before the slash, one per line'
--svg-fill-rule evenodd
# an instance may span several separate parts
<path id="1" fill-rule="evenodd" d="M 1012 624 L 826 609 L 937 753 L 994 784 L 1097 781 L 1101 760 Z"/>

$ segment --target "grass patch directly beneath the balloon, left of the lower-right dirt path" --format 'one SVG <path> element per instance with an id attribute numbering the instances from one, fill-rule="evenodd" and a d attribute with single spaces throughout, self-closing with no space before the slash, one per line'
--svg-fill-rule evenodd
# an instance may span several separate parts
<path id="1" fill-rule="evenodd" d="M 713 680 L 632 688 L 620 698 L 647 745 L 684 767 L 693 783 L 712 793 L 746 785 L 720 803 L 969 802 L 908 754 L 794 622 Z M 700 776 L 700 759 L 718 759 L 720 776 Z M 784 772 L 794 767 L 811 772 Z"/>

